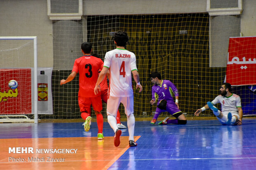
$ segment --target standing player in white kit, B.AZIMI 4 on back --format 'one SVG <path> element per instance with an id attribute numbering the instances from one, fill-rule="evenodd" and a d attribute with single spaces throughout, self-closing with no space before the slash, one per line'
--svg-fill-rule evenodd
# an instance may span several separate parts
<path id="1" fill-rule="evenodd" d="M 126 32 L 118 31 L 114 34 L 114 42 L 116 49 L 109 51 L 105 55 L 104 67 L 100 72 L 97 83 L 94 88 L 95 94 L 100 91 L 100 83 L 104 79 L 109 70 L 109 98 L 107 100 L 107 119 L 109 125 L 114 130 L 114 145 L 120 145 L 120 136 L 122 131 L 116 125 L 116 112 L 119 104 L 123 103 L 127 116 L 127 126 L 129 131 L 129 146 L 135 147 L 137 143 L 134 141 L 135 118 L 133 115 L 133 88 L 132 74 L 136 88 L 140 88 L 140 77 L 136 67 L 136 57 L 134 53 L 125 49 L 128 41 Z"/>

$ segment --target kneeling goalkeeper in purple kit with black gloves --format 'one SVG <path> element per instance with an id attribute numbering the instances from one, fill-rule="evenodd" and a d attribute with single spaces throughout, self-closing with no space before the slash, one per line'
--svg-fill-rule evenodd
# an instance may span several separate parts
<path id="1" fill-rule="evenodd" d="M 179 109 L 178 105 L 178 90 L 176 86 L 169 80 L 162 80 L 161 74 L 158 72 L 152 72 L 150 75 L 152 86 L 152 100 L 150 103 L 153 105 L 157 102 L 156 113 L 151 124 L 155 124 L 158 116 L 162 112 L 168 112 L 176 119 L 169 119 L 166 117 L 159 124 L 187 124 L 187 119 Z M 173 100 L 175 96 L 175 102 Z"/>

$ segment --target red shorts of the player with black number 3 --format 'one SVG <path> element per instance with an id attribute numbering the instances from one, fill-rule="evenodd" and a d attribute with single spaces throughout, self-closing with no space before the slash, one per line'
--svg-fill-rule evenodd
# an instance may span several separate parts
<path id="1" fill-rule="evenodd" d="M 81 112 L 91 113 L 91 105 L 93 110 L 97 112 L 100 112 L 102 110 L 101 96 L 97 96 L 97 97 L 78 96 L 78 104 Z"/>

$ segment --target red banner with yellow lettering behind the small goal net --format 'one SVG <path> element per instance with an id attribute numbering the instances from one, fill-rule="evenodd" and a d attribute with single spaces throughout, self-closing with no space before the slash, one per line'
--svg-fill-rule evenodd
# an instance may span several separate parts
<path id="1" fill-rule="evenodd" d="M 11 89 L 10 80 L 18 87 Z M 0 69 L 0 115 L 31 114 L 31 69 Z"/>

